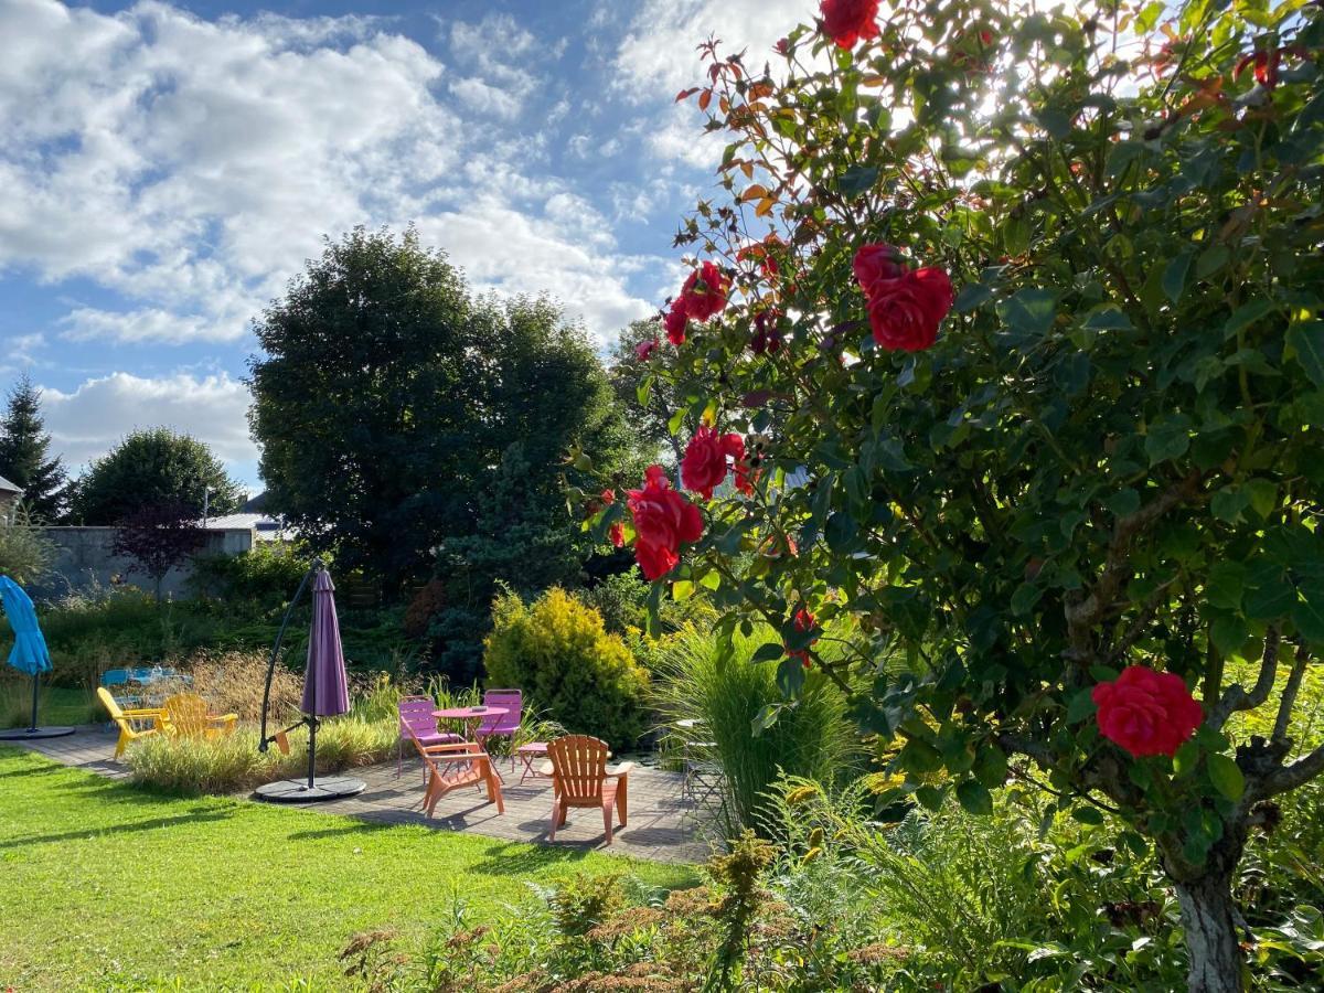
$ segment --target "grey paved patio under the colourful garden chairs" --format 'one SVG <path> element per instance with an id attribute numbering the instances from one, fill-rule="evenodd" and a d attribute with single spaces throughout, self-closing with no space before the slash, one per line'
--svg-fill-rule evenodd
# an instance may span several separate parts
<path id="1" fill-rule="evenodd" d="M 20 744 L 65 765 L 101 776 L 128 776 L 128 767 L 111 759 L 115 735 L 99 726 L 81 727 L 68 737 L 3 744 Z M 598 849 L 655 862 L 700 862 L 708 855 L 708 846 L 699 834 L 700 810 L 692 802 L 682 800 L 679 773 L 638 765 L 630 772 L 630 822 L 616 831 L 616 842 L 606 847 L 602 816 L 596 810 L 571 810 L 565 826 L 557 829 L 556 841 L 551 842 L 547 837 L 552 812 L 551 782 L 530 776 L 522 784 L 519 772 L 512 773 L 507 760 L 495 761 L 506 781 L 502 790 L 506 813 L 500 816 L 495 805 L 485 802 L 486 794 L 475 788 L 442 797 L 437 804 L 436 817 L 425 817 L 418 809 L 424 780 L 422 763 L 417 756 L 405 760 L 404 775 L 400 777 L 396 776 L 393 761 L 344 773 L 368 784 L 356 797 L 289 806 L 385 824 L 418 824 L 438 831 L 467 831 L 535 845 Z M 516 768 L 520 767 L 516 764 Z"/>

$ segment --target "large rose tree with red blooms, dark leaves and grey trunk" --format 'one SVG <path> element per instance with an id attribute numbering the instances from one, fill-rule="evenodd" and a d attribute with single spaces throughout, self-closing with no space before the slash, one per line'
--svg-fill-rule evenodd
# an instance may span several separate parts
<path id="1" fill-rule="evenodd" d="M 777 625 L 784 706 L 822 666 L 915 801 L 1010 769 L 1110 812 L 1190 989 L 1241 989 L 1238 863 L 1324 773 L 1319 7 L 826 0 L 775 71 L 706 56 L 724 193 L 654 375 L 718 425 L 687 487 L 759 475 L 702 528 L 657 477 L 598 528 L 720 632 Z"/>

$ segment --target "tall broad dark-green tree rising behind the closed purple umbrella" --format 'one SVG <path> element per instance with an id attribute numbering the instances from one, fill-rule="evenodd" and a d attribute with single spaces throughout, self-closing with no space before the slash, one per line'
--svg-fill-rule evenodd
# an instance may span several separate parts
<path id="1" fill-rule="evenodd" d="M 413 230 L 357 229 L 328 241 L 256 331 L 252 425 L 271 506 L 340 563 L 399 585 L 440 557 L 466 576 L 470 621 L 494 579 L 577 568 L 564 453 L 624 467 L 636 441 L 555 306 L 475 298 Z M 500 522 L 494 500 L 508 504 Z M 526 527 L 545 538 L 535 560 L 511 540 Z"/>

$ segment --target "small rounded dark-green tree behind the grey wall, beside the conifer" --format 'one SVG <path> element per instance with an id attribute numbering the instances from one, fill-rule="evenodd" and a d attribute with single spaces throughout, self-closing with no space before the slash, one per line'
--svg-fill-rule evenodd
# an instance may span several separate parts
<path id="1" fill-rule="evenodd" d="M 207 442 L 169 428 L 126 436 L 94 459 L 74 486 L 70 518 L 79 524 L 118 524 L 144 507 L 177 506 L 195 518 L 232 514 L 240 485 Z"/>

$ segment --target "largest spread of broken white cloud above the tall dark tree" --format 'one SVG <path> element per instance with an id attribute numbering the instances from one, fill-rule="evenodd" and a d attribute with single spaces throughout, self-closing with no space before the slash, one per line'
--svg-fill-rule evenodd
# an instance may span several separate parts
<path id="1" fill-rule="evenodd" d="M 502 124 L 564 40 L 493 15 L 446 28 L 455 71 L 372 17 L 0 0 L 0 271 L 111 291 L 65 293 L 48 330 L 69 340 L 230 343 L 324 233 L 417 221 L 485 286 L 548 291 L 605 340 L 643 306 L 637 263 L 544 171 L 548 135 Z"/>

